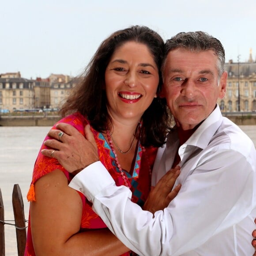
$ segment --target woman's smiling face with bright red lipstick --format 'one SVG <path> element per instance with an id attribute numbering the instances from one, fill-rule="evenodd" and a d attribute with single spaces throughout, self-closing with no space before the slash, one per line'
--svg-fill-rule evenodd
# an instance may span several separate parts
<path id="1" fill-rule="evenodd" d="M 105 70 L 105 90 L 112 119 L 139 121 L 156 97 L 158 82 L 158 67 L 147 45 L 128 41 L 117 48 Z"/>

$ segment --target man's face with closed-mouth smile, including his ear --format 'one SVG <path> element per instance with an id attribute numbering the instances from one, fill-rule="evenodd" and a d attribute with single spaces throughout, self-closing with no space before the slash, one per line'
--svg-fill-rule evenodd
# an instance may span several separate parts
<path id="1" fill-rule="evenodd" d="M 227 73 L 218 82 L 217 56 L 212 50 L 191 52 L 178 48 L 169 52 L 163 71 L 163 96 L 177 126 L 193 129 L 214 110 L 226 93 Z"/>

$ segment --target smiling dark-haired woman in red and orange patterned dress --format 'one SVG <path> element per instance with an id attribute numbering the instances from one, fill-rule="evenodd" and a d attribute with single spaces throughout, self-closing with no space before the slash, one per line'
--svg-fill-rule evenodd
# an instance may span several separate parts
<path id="1" fill-rule="evenodd" d="M 113 33 L 99 46 L 60 110 L 60 122 L 72 124 L 82 135 L 90 124 L 100 160 L 117 185 L 131 188 L 132 200 L 140 206 L 149 193 L 157 147 L 168 132 L 169 113 L 157 97 L 163 45 L 162 38 L 144 26 Z M 67 136 L 57 134 L 60 140 Z M 58 153 L 52 151 L 51 158 L 39 153 L 34 166 L 25 255 L 127 252 L 90 202 L 68 187 L 72 177 L 54 158 Z"/>

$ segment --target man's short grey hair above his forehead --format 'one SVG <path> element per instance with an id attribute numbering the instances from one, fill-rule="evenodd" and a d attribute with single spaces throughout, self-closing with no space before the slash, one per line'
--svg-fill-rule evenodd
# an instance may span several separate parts
<path id="1" fill-rule="evenodd" d="M 225 50 L 222 43 L 218 39 L 205 32 L 196 31 L 188 33 L 181 32 L 166 41 L 162 62 L 162 72 L 166 64 L 166 57 L 168 53 L 177 48 L 183 48 L 192 52 L 213 50 L 218 58 L 218 80 L 225 71 Z"/>

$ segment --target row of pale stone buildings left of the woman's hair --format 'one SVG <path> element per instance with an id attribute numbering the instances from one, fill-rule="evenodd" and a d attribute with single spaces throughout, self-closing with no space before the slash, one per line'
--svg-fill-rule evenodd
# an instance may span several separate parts
<path id="1" fill-rule="evenodd" d="M 32 80 L 20 72 L 0 74 L 0 112 L 57 110 L 76 83 L 67 75 Z"/>

